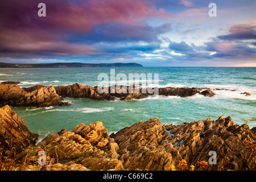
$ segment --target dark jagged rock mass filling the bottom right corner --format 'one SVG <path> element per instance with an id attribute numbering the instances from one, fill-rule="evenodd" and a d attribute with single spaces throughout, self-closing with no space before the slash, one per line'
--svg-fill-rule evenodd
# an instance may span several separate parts
<path id="1" fill-rule="evenodd" d="M 255 143 L 256 134 L 247 124 L 234 125 L 230 117 L 223 115 L 216 121 L 208 118 L 166 127 L 172 134 L 170 142 L 190 165 L 208 162 L 209 152 L 215 151 L 217 163 L 209 165 L 209 170 L 256 170 L 255 151 L 248 146 Z"/>

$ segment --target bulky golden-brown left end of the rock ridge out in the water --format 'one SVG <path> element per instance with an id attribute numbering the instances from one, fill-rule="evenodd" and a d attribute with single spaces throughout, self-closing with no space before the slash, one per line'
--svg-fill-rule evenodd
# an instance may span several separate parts
<path id="1" fill-rule="evenodd" d="M 19 85 L 0 84 L 0 106 L 63 106 L 69 102 L 61 102 L 61 98 L 53 86 L 36 85 L 20 88 Z"/>

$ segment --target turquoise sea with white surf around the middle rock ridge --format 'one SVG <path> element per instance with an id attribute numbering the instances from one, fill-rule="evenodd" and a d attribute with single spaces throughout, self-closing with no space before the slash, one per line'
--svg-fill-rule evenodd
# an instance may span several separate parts
<path id="1" fill-rule="evenodd" d="M 201 95 L 180 98 L 156 96 L 133 101 L 90 101 L 65 98 L 73 102 L 61 107 L 15 107 L 13 110 L 24 119 L 28 129 L 41 135 L 41 139 L 61 129 L 72 130 L 80 123 L 102 121 L 109 133 L 135 122 L 158 117 L 164 123 L 179 125 L 208 117 L 216 120 L 221 115 L 230 115 L 234 123 L 256 126 L 256 68 L 216 67 L 143 67 L 114 68 L 115 74 L 159 74 L 159 87 L 208 87 L 229 90 L 214 90 L 216 96 Z M 0 69 L 0 81 L 20 81 L 21 87 L 43 85 L 70 85 L 80 82 L 97 86 L 100 73 L 110 75 L 110 68 L 19 68 Z M 123 81 L 116 81 L 122 84 Z M 136 82 L 135 82 L 136 83 Z M 156 86 L 154 82 L 148 86 Z M 234 91 L 231 91 L 234 90 Z M 240 94 L 249 92 L 251 96 Z"/>

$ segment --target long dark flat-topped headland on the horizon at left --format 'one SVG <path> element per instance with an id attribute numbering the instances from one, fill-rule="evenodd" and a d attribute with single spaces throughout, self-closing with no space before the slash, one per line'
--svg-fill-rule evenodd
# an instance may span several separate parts
<path id="1" fill-rule="evenodd" d="M 81 67 L 143 67 L 137 63 L 44 63 L 44 64 L 11 64 L 0 63 L 0 68 L 81 68 Z"/>

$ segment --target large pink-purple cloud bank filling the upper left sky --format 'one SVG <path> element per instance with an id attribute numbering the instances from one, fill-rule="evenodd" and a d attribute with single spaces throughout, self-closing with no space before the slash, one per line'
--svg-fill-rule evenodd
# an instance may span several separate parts
<path id="1" fill-rule="evenodd" d="M 86 34 L 101 24 L 123 23 L 127 27 L 142 27 L 151 17 L 168 17 L 164 9 L 156 10 L 143 0 L 88 0 L 70 3 L 68 0 L 44 0 L 46 17 L 38 16 L 39 0 L 4 1 L 0 6 L 0 49 L 2 54 L 49 53 L 96 54 L 96 48 L 86 43 L 72 43 L 69 33 Z M 137 26 L 135 26 L 137 25 Z"/>

